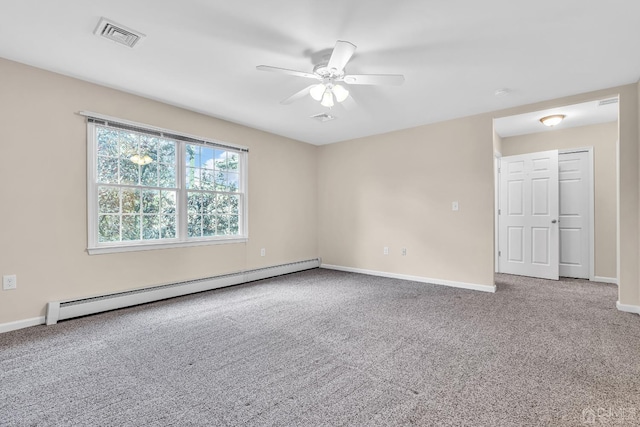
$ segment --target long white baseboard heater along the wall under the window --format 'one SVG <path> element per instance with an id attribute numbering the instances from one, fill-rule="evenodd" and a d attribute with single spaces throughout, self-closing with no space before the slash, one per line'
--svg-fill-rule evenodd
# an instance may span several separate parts
<path id="1" fill-rule="evenodd" d="M 52 301 L 47 304 L 46 323 L 47 325 L 54 325 L 59 320 L 72 319 L 74 317 L 86 316 L 103 311 L 116 310 L 118 308 L 131 307 L 167 298 L 224 288 L 226 286 L 239 285 L 241 283 L 253 282 L 318 267 L 320 267 L 320 259 L 310 259 L 307 261 L 292 262 L 289 264 L 154 286 L 134 291 L 118 292 L 71 301 Z"/>

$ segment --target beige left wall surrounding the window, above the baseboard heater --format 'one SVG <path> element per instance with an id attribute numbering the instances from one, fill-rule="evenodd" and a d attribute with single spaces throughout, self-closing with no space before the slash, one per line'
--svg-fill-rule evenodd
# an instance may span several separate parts
<path id="1" fill-rule="evenodd" d="M 18 277 L 0 324 L 52 300 L 317 257 L 316 147 L 2 59 L 0 76 L 0 274 Z M 82 110 L 248 146 L 249 242 L 88 255 Z"/>

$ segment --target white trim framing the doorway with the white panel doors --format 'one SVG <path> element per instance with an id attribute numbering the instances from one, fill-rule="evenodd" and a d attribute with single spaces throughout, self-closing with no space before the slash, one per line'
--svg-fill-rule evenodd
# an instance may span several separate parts
<path id="1" fill-rule="evenodd" d="M 589 280 L 593 281 L 596 278 L 595 275 L 595 186 L 594 186 L 594 164 L 593 164 L 593 147 L 580 147 L 580 148 L 568 148 L 563 150 L 558 150 L 558 155 L 563 153 L 575 153 L 580 151 L 586 151 L 589 153 Z M 493 173 L 494 173 L 494 268 L 496 273 L 500 273 L 500 262 L 498 259 L 498 252 L 500 251 L 500 229 L 498 226 L 498 207 L 500 206 L 500 178 L 499 178 L 499 168 L 500 168 L 500 158 L 502 157 L 501 153 L 497 151 L 493 153 Z"/>

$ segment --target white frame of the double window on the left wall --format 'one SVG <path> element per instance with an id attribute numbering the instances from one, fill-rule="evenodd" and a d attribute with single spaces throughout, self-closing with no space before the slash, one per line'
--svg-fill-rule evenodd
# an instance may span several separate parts
<path id="1" fill-rule="evenodd" d="M 228 243 L 244 243 L 248 241 L 248 148 L 221 141 L 215 141 L 199 136 L 188 135 L 182 132 L 158 128 L 147 124 L 136 123 L 128 120 L 105 116 L 102 114 L 82 111 L 80 115 L 87 117 L 87 228 L 88 245 L 87 252 L 90 255 L 113 252 L 144 251 L 152 249 L 178 248 L 187 246 L 218 245 Z M 176 142 L 176 234 L 175 239 L 148 240 L 148 241 L 119 241 L 119 242 L 99 242 L 98 241 L 98 182 L 97 182 L 97 140 L 96 125 L 109 126 L 124 125 L 136 128 L 136 132 L 144 131 L 160 133 L 165 139 Z M 113 126 L 119 130 L 118 126 Z M 184 139 L 179 139 L 179 138 Z M 234 150 L 239 154 L 240 183 L 238 186 L 240 194 L 239 207 L 239 235 L 233 236 L 207 236 L 188 237 L 187 236 L 187 191 L 185 185 L 186 165 L 185 165 L 185 145 L 196 144 L 211 146 L 212 148 L 222 148 Z"/>

